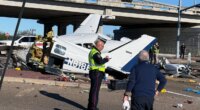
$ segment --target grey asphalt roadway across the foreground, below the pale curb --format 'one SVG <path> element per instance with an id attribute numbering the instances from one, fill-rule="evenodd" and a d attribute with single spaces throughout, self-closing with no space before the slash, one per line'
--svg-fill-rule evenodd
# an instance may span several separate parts
<path id="1" fill-rule="evenodd" d="M 160 94 L 155 99 L 155 110 L 177 110 L 178 103 L 184 110 L 199 110 L 200 95 L 185 92 L 194 84 L 168 81 L 167 90 L 192 96 Z M 100 92 L 100 110 L 121 110 L 123 90 Z M 25 83 L 5 82 L 0 92 L 1 110 L 82 110 L 87 107 L 88 90 L 84 88 L 58 87 Z M 192 104 L 187 101 L 192 101 Z"/>

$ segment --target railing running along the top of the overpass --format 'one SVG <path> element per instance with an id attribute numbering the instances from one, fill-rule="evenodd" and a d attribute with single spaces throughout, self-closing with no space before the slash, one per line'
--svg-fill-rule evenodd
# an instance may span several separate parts
<path id="1" fill-rule="evenodd" d="M 163 4 L 159 2 L 152 2 L 152 1 L 134 1 L 134 0 L 55 0 L 55 1 L 87 3 L 87 4 L 96 4 L 96 5 L 111 6 L 111 7 L 144 9 L 144 10 L 162 11 L 162 12 L 166 11 L 172 13 L 178 12 L 178 6 Z M 199 15 L 200 8 L 193 8 L 183 13 Z"/>

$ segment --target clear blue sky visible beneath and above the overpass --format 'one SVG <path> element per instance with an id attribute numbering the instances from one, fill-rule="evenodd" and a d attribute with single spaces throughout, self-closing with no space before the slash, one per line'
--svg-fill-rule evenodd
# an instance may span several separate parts
<path id="1" fill-rule="evenodd" d="M 178 0 L 152 0 L 161 3 L 178 5 Z M 183 6 L 191 6 L 194 4 L 195 0 L 182 0 Z M 200 3 L 200 0 L 196 0 L 196 3 Z M 15 26 L 17 23 L 16 18 L 6 18 L 0 17 L 0 32 L 8 32 L 11 35 L 14 34 Z M 36 29 L 36 34 L 43 35 L 43 25 L 38 24 L 36 20 L 30 19 L 22 19 L 19 31 L 21 30 L 30 30 Z M 72 33 L 72 26 L 68 26 L 68 33 Z M 119 26 L 104 26 L 103 28 L 104 34 L 113 34 L 113 30 L 119 29 Z M 57 32 L 57 28 L 54 27 L 55 33 Z M 57 33 L 56 33 L 57 34 Z"/>

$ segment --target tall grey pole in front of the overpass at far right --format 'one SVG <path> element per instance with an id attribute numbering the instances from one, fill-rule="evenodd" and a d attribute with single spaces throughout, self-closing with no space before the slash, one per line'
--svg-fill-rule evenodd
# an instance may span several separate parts
<path id="1" fill-rule="evenodd" d="M 179 58 L 179 48 L 180 48 L 180 35 L 181 35 L 181 4 L 182 0 L 179 0 L 179 8 L 178 8 L 178 28 L 177 28 L 177 39 L 176 39 L 176 58 Z"/>

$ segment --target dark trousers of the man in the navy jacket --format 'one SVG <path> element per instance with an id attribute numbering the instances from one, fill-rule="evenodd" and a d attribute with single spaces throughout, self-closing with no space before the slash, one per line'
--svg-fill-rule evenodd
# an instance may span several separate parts
<path id="1" fill-rule="evenodd" d="M 153 110 L 153 101 L 153 97 L 132 97 L 131 110 Z"/>

